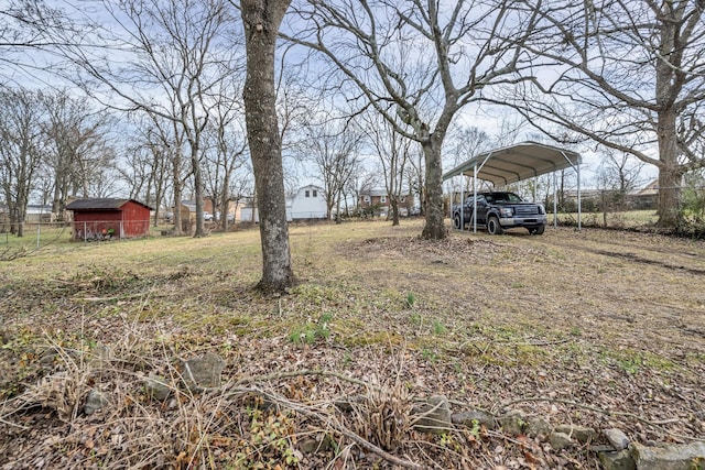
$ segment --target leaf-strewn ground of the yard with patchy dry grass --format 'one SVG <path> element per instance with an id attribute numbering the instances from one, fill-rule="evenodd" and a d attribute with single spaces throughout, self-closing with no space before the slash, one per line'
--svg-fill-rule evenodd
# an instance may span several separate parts
<path id="1" fill-rule="evenodd" d="M 252 289 L 256 231 L 0 264 L 0 468 L 599 468 L 543 436 L 413 430 L 433 395 L 642 444 L 705 439 L 705 243 L 420 232 L 292 227 L 299 284 L 274 298 Z M 205 352 L 224 384 L 184 390 L 180 360 Z M 170 398 L 145 394 L 156 375 Z M 87 416 L 90 390 L 108 404 Z M 350 396 L 365 400 L 335 406 Z"/>

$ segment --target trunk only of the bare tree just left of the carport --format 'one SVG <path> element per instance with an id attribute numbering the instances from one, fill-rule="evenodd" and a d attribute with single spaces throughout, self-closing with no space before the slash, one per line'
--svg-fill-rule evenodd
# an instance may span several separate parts
<path id="1" fill-rule="evenodd" d="M 436 139 L 429 139 L 422 146 L 426 162 L 426 204 L 424 208 L 426 223 L 422 237 L 429 240 L 444 240 L 448 236 L 448 229 L 445 227 L 445 212 L 443 211 L 441 143 Z"/>

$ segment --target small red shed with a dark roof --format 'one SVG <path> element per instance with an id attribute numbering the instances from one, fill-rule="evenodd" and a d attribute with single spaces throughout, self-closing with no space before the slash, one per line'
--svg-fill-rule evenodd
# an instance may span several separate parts
<path id="1" fill-rule="evenodd" d="M 147 237 L 151 207 L 134 199 L 77 199 L 66 206 L 74 211 L 74 239 L 104 240 Z"/>

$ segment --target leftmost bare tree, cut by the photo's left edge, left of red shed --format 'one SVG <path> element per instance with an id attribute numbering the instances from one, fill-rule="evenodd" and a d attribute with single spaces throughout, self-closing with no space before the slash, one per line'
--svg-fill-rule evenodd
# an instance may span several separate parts
<path id="1" fill-rule="evenodd" d="M 42 160 L 42 100 L 34 91 L 0 89 L 0 185 L 18 237 L 24 236 L 26 206 Z"/>

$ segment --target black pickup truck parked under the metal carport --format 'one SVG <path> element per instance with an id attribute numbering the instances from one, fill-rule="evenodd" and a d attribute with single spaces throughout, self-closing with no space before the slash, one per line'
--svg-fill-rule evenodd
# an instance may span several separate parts
<path id="1" fill-rule="evenodd" d="M 475 196 L 464 205 L 453 205 L 453 227 L 473 226 Z M 513 193 L 491 192 L 477 194 L 477 226 L 487 228 L 490 234 L 501 234 L 506 229 L 523 227 L 529 233 L 541 234 L 546 228 L 546 210 L 541 204 L 525 203 Z"/>

